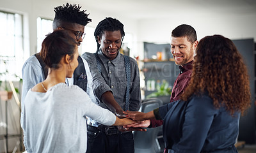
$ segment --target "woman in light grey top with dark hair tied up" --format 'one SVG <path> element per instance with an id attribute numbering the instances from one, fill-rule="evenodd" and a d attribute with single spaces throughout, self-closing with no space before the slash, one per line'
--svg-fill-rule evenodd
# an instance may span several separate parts
<path id="1" fill-rule="evenodd" d="M 77 85 L 65 84 L 78 66 L 78 55 L 76 41 L 67 31 L 54 31 L 43 41 L 40 56 L 49 73 L 29 90 L 22 107 L 27 152 L 86 152 L 87 116 L 108 126 L 134 122 L 96 105 Z"/>

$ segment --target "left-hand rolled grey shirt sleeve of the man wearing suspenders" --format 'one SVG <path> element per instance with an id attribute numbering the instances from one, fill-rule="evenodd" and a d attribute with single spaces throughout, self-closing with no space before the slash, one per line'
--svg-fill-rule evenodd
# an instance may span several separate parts
<path id="1" fill-rule="evenodd" d="M 104 78 L 102 78 L 102 75 L 99 73 L 95 55 L 92 53 L 84 53 L 82 57 L 88 62 L 88 66 L 90 68 L 90 72 L 93 78 L 93 92 L 98 99 L 101 99 L 102 94 L 107 91 L 112 92 L 112 90 L 110 89 L 109 85 L 106 84 Z"/>

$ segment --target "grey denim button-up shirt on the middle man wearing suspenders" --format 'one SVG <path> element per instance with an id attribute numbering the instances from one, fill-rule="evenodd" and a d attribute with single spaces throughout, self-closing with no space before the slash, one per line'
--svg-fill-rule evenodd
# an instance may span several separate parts
<path id="1" fill-rule="evenodd" d="M 101 50 L 98 52 L 101 65 L 101 74 L 97 69 L 96 57 L 92 53 L 84 53 L 82 57 L 86 59 L 90 67 L 93 77 L 93 92 L 95 96 L 100 99 L 102 94 L 111 91 L 116 102 L 125 108 L 125 91 L 126 91 L 126 75 L 124 55 L 118 53 L 115 59 L 109 59 L 102 54 Z M 131 89 L 130 89 L 130 105 L 129 110 L 138 111 L 141 105 L 140 93 L 140 73 L 137 62 L 130 57 L 131 62 Z M 104 103 L 99 103 L 103 108 L 108 108 Z"/>

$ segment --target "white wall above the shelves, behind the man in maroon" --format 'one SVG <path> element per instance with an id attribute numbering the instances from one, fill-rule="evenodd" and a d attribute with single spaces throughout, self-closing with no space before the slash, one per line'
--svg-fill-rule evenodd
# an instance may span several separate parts
<path id="1" fill-rule="evenodd" d="M 195 17 L 176 17 L 140 20 L 138 40 L 164 43 L 170 42 L 172 30 L 180 24 L 192 25 L 198 40 L 212 34 L 222 34 L 230 39 L 254 38 L 256 40 L 256 13 L 246 15 L 202 14 Z"/>

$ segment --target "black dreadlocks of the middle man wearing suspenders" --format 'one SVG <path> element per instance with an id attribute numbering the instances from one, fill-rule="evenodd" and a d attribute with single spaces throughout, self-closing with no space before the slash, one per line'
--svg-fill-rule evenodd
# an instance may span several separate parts
<path id="1" fill-rule="evenodd" d="M 94 36 L 95 40 L 97 42 L 97 52 L 99 51 L 100 45 L 97 40 L 97 36 L 101 38 L 102 34 L 104 31 L 120 31 L 122 35 L 122 41 L 124 38 L 124 25 L 117 20 L 116 18 L 111 18 L 111 17 L 106 17 L 104 20 L 100 21 L 99 24 L 97 25 L 95 31 L 94 31 Z M 122 45 L 121 41 L 121 45 Z"/>

